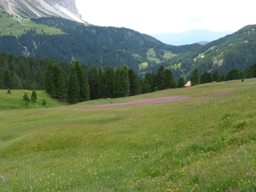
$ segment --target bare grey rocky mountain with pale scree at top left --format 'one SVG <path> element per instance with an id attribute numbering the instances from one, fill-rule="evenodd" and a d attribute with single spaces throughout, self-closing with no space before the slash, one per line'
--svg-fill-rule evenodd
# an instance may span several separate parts
<path id="1" fill-rule="evenodd" d="M 1 10 L 19 19 L 56 16 L 86 23 L 75 0 L 0 0 Z"/>

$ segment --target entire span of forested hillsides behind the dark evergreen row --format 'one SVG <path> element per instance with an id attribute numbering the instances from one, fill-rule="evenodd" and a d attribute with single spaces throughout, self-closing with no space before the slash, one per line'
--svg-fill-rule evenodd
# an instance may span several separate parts
<path id="1" fill-rule="evenodd" d="M 224 75 L 233 68 L 245 70 L 256 61 L 254 25 L 205 45 L 172 46 L 126 28 L 84 26 L 54 17 L 32 19 L 32 23 L 35 26 L 19 31 L 17 36 L 0 35 L 0 50 L 38 59 L 48 57 L 63 63 L 79 61 L 84 66 L 97 68 L 126 65 L 141 78 L 147 73 L 157 73 L 162 65 L 172 71 L 176 81 L 189 80 L 195 68 L 200 73 L 218 71 Z M 44 32 L 41 26 L 49 29 Z M 42 89 L 41 85 L 38 87 Z"/>

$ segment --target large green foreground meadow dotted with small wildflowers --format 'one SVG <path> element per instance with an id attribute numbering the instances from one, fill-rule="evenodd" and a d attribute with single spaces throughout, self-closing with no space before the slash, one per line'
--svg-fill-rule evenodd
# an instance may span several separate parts
<path id="1" fill-rule="evenodd" d="M 2 111 L 0 175 L 8 181 L 1 181 L 0 189 L 253 191 L 255 86 L 256 79 L 246 79 L 69 107 Z M 90 108 L 160 96 L 189 99 Z"/>

